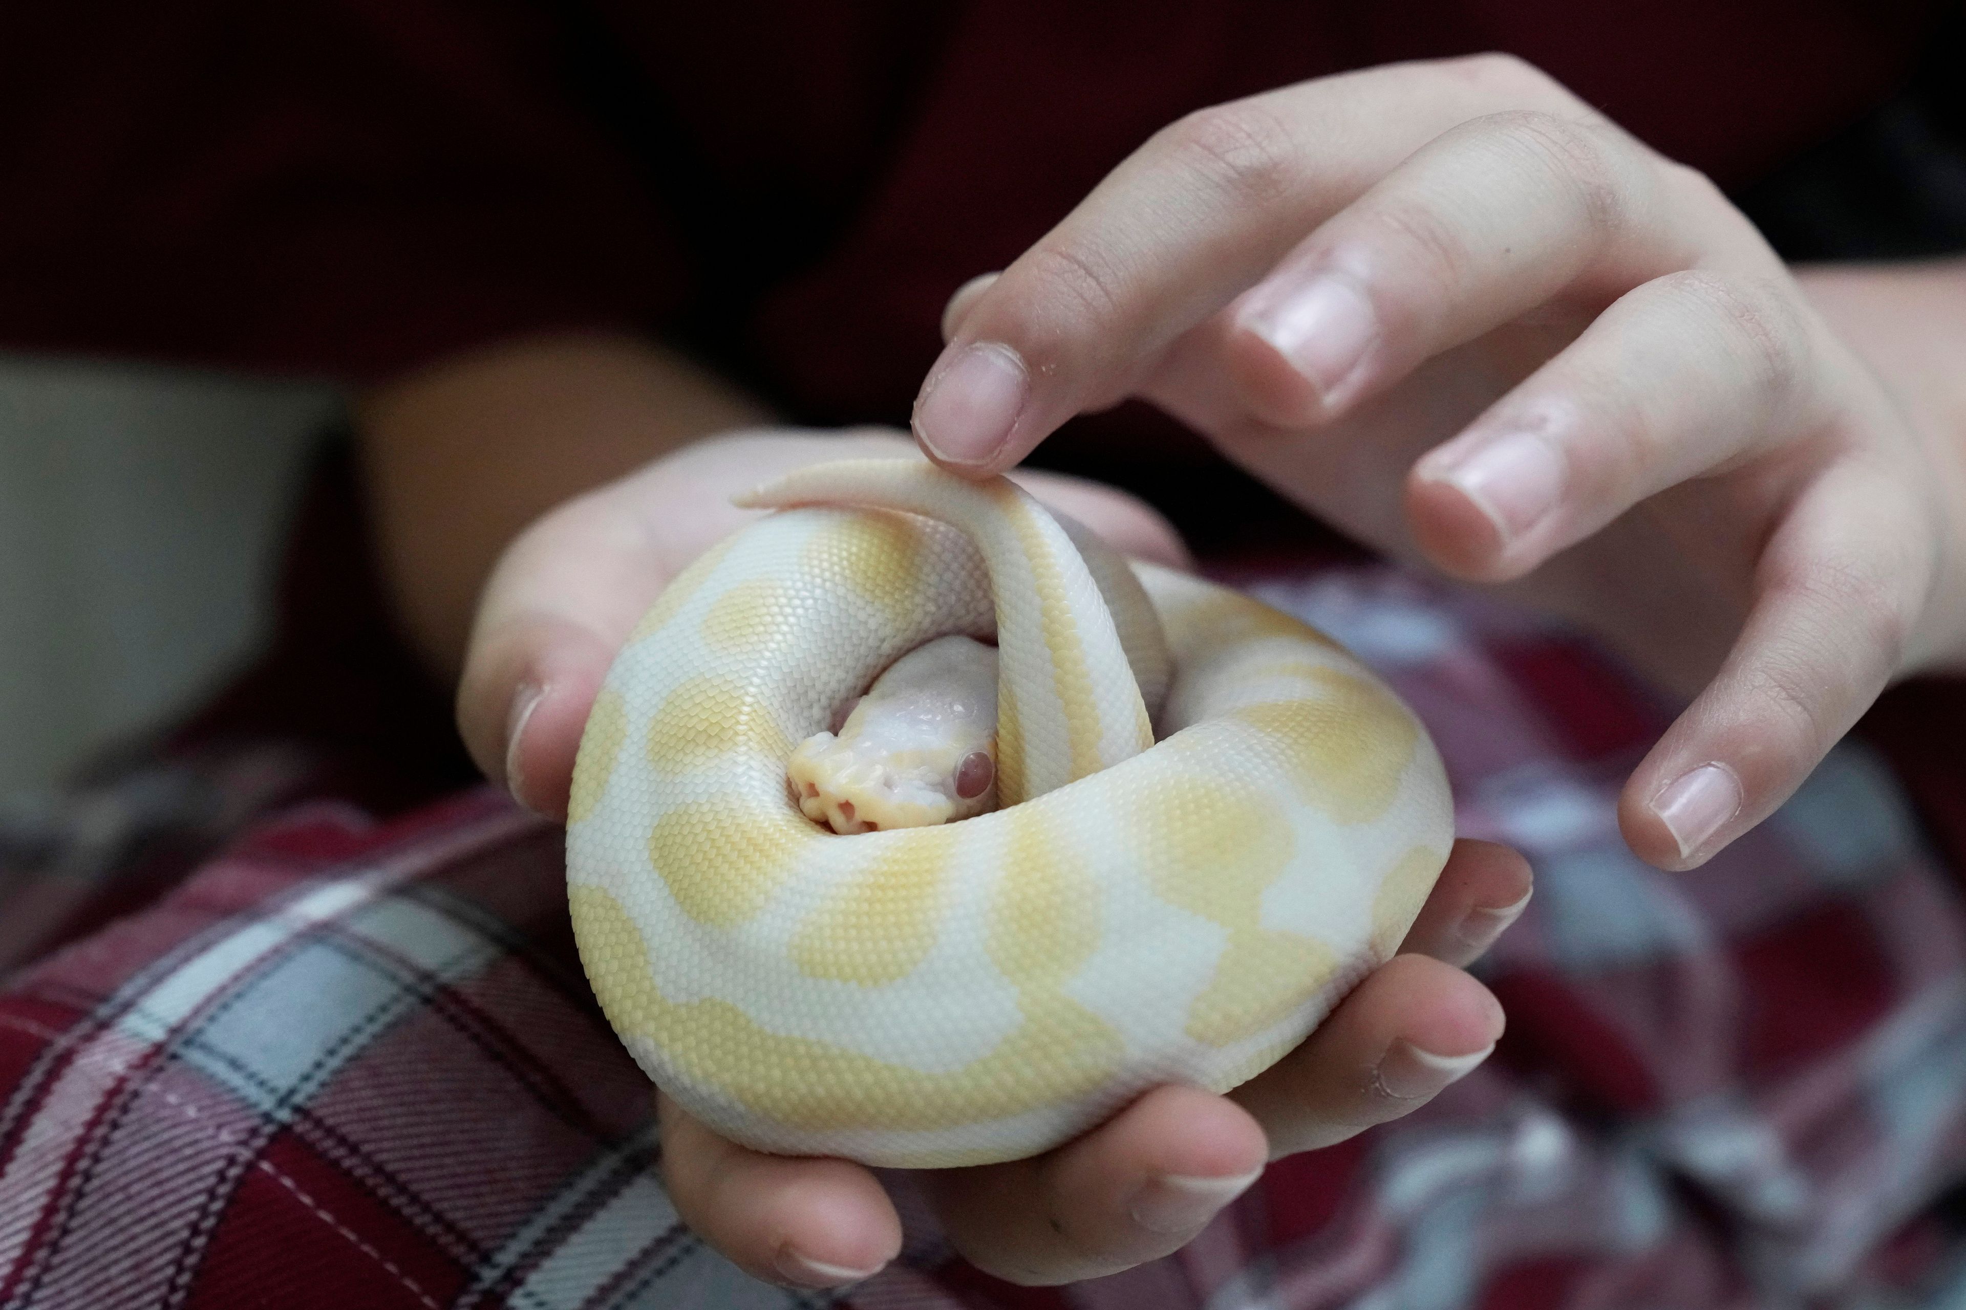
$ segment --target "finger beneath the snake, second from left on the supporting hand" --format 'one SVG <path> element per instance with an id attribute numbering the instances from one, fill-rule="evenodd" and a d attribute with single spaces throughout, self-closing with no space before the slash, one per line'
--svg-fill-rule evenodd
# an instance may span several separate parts
<path id="1" fill-rule="evenodd" d="M 930 1174 L 955 1247 L 1012 1283 L 1070 1283 L 1184 1247 L 1262 1173 L 1243 1110 L 1164 1086 L 1085 1137 L 1009 1165 Z"/>

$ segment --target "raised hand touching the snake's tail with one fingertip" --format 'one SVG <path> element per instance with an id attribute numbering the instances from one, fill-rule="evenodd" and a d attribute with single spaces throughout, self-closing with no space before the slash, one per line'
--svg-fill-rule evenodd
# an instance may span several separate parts
<path id="1" fill-rule="evenodd" d="M 1620 807 L 1663 868 L 1765 817 L 1891 678 L 1966 658 L 1962 444 L 1712 183 L 1516 59 L 1193 114 L 946 336 L 914 426 L 952 469 L 1138 395 L 1691 695 Z"/>

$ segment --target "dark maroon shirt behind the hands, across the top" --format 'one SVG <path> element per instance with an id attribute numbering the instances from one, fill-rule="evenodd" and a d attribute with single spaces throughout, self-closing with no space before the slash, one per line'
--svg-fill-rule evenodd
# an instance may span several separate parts
<path id="1" fill-rule="evenodd" d="M 1191 108 L 1508 49 L 1734 185 L 1885 98 L 1935 8 L 6 6 L 0 344 L 370 379 L 631 326 L 804 418 L 893 420 L 948 293 Z"/>

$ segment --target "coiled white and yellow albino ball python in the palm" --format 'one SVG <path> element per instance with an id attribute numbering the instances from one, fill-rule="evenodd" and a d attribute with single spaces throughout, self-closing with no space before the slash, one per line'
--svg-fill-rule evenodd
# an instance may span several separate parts
<path id="1" fill-rule="evenodd" d="M 1160 1082 L 1254 1076 L 1394 953 L 1447 780 L 1331 640 L 1128 570 L 1005 479 L 865 460 L 741 503 L 782 513 L 629 636 L 566 833 L 607 1019 L 706 1123 L 871 1165 L 1034 1155 Z M 948 634 L 997 652 L 902 662 L 841 725 Z M 883 733 L 885 760 L 855 740 Z M 924 815 L 957 821 L 889 827 Z"/>

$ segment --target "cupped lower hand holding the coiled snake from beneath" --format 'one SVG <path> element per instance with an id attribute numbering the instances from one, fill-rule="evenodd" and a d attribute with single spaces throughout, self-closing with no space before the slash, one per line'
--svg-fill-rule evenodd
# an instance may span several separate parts
<path id="1" fill-rule="evenodd" d="M 458 721 L 493 780 L 564 815 L 574 750 L 627 632 L 668 579 L 753 515 L 729 505 L 800 464 L 906 454 L 898 436 L 751 432 L 702 442 L 568 501 L 519 536 L 486 587 Z M 1172 530 L 1093 483 L 1020 475 L 1128 554 L 1182 566 Z M 1364 980 L 1296 1053 L 1231 1098 L 1168 1086 L 1034 1161 L 926 1174 L 950 1237 L 1026 1283 L 1111 1273 L 1185 1243 L 1266 1155 L 1349 1137 L 1425 1104 L 1502 1029 L 1465 964 L 1520 911 L 1528 866 L 1461 843 L 1402 955 Z M 763 1279 L 828 1286 L 895 1257 L 900 1226 L 867 1169 L 761 1155 L 659 1102 L 663 1173 L 678 1214 Z"/>

